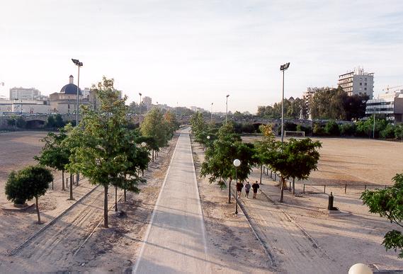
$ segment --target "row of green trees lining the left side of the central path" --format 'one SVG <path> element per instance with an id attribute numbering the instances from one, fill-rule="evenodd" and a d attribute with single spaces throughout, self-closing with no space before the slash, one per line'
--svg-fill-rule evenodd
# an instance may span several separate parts
<path id="1" fill-rule="evenodd" d="M 99 112 L 82 106 L 78 127 L 66 125 L 60 132 L 50 132 L 43 139 L 42 152 L 35 156 L 40 166 L 29 166 L 9 176 L 6 183 L 8 200 L 23 203 L 35 197 L 38 222 L 38 197 L 45 194 L 52 181 L 52 174 L 42 166 L 62 171 L 62 190 L 64 171 L 81 173 L 91 184 L 103 186 L 104 227 L 108 227 L 109 188 L 115 188 L 117 210 L 117 188 L 124 190 L 125 199 L 127 190 L 138 193 L 138 185 L 145 183 L 140 173 L 147 169 L 151 152 L 158 152 L 160 147 L 164 147 L 176 130 L 175 116 L 172 113 L 162 115 L 158 109 L 146 115 L 140 130 L 127 127 L 126 98 L 119 99 L 113 84 L 113 79 L 104 77 L 103 81 L 93 86 L 101 101 Z"/>

